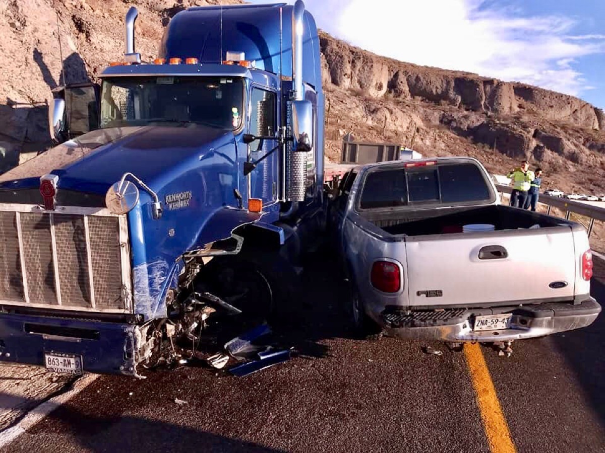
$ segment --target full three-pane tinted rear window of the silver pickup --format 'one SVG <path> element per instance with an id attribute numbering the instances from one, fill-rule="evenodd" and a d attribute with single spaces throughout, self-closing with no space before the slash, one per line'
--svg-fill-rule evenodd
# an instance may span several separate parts
<path id="1" fill-rule="evenodd" d="M 483 173 L 472 163 L 439 164 L 409 169 L 390 168 L 368 173 L 361 193 L 361 209 L 408 204 L 457 204 L 490 201 Z"/>

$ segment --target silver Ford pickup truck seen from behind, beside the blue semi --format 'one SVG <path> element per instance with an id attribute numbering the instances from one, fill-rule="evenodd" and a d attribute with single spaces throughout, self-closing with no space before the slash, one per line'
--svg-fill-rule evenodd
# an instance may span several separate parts
<path id="1" fill-rule="evenodd" d="M 367 334 L 508 342 L 586 327 L 601 311 L 583 226 L 500 205 L 476 159 L 356 167 L 329 228 Z"/>

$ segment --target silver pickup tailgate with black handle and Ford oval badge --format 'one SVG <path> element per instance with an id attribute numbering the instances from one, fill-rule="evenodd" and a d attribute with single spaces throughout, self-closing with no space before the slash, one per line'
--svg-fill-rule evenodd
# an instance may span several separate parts
<path id="1" fill-rule="evenodd" d="M 406 237 L 405 249 L 410 306 L 574 297 L 576 259 L 568 226 Z"/>

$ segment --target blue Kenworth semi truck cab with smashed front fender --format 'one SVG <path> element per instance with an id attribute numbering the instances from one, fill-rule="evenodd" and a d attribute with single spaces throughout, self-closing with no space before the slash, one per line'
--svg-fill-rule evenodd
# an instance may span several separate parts
<path id="1" fill-rule="evenodd" d="M 295 303 L 324 223 L 313 16 L 189 8 L 153 63 L 136 18 L 99 89 L 57 95 L 60 144 L 0 175 L 2 361 L 140 376 L 213 323 Z"/>

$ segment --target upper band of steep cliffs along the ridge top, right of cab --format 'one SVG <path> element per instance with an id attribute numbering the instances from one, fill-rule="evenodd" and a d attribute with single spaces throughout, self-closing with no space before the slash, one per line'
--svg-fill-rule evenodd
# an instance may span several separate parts
<path id="1" fill-rule="evenodd" d="M 322 34 L 321 52 L 333 85 L 372 97 L 392 95 L 495 115 L 526 112 L 587 129 L 600 129 L 603 123 L 603 112 L 589 103 L 546 89 L 397 62 L 327 34 Z"/>

